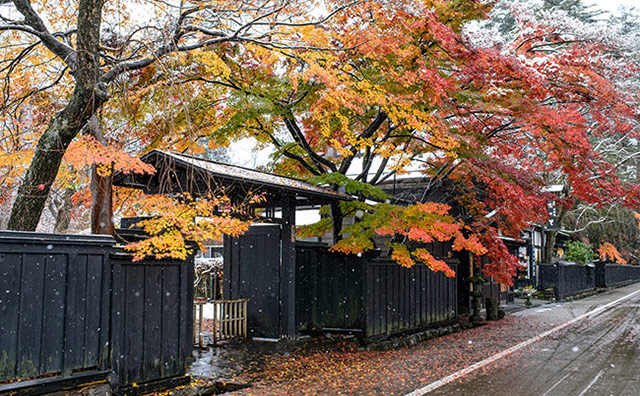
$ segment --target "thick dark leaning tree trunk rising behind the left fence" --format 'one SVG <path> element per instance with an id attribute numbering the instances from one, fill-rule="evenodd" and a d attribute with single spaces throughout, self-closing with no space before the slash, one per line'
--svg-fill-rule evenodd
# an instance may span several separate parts
<path id="1" fill-rule="evenodd" d="M 79 2 L 77 63 L 72 71 L 76 85 L 67 106 L 55 115 L 38 140 L 11 210 L 7 225 L 11 230 L 36 229 L 67 147 L 108 98 L 105 87 L 98 83 L 102 6 L 103 0 Z"/>

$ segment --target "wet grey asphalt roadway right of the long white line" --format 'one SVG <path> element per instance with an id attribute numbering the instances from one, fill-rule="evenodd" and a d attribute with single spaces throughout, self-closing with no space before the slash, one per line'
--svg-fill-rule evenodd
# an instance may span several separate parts
<path id="1" fill-rule="evenodd" d="M 640 290 L 635 284 L 518 313 L 571 320 Z M 429 395 L 640 395 L 640 293 Z"/>

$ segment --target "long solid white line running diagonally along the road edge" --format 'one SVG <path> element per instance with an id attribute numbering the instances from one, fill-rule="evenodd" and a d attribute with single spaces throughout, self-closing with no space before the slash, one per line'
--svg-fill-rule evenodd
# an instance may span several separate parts
<path id="1" fill-rule="evenodd" d="M 541 339 L 543 339 L 543 338 L 545 338 L 545 337 L 547 337 L 547 336 L 549 336 L 549 335 L 551 335 L 553 333 L 556 333 L 556 332 L 564 329 L 565 327 L 571 326 L 572 324 L 574 324 L 574 323 L 576 323 L 576 322 L 578 322 L 578 321 L 580 321 L 582 319 L 588 318 L 590 316 L 597 315 L 600 312 L 606 310 L 607 308 L 612 307 L 612 306 L 618 304 L 621 301 L 627 300 L 627 299 L 635 296 L 638 293 L 640 293 L 640 290 L 636 290 L 633 293 L 627 294 L 626 296 L 620 297 L 619 299 L 617 299 L 615 301 L 612 301 L 612 302 L 607 303 L 607 304 L 605 304 L 605 305 L 603 305 L 601 307 L 598 307 L 598 308 L 594 309 L 593 311 L 590 311 L 590 312 L 584 313 L 584 314 L 582 314 L 580 316 L 577 316 L 577 317 L 571 319 L 570 321 L 568 321 L 566 323 L 563 323 L 561 325 L 558 325 L 558 326 L 552 328 L 551 330 L 547 330 L 547 331 L 545 331 L 543 333 L 540 333 L 535 337 L 529 338 L 528 340 L 523 341 L 523 342 L 521 342 L 519 344 L 516 344 L 516 345 L 512 346 L 511 348 L 507 348 L 502 352 L 498 352 L 495 355 L 490 356 L 490 357 L 488 357 L 488 358 L 486 358 L 484 360 L 481 360 L 481 361 L 479 361 L 477 363 L 474 363 L 469 367 L 466 367 L 466 368 L 464 368 L 462 370 L 456 371 L 455 373 L 450 374 L 450 375 L 448 375 L 448 376 L 446 376 L 444 378 L 441 378 L 438 381 L 432 382 L 429 385 L 426 385 L 426 386 L 424 386 L 422 388 L 418 388 L 418 389 L 414 390 L 413 392 L 409 392 L 404 396 L 422 396 L 422 395 L 426 395 L 427 393 L 432 392 L 432 391 L 434 391 L 434 390 L 436 390 L 436 389 L 438 389 L 438 388 L 440 388 L 440 387 L 442 387 L 442 386 L 444 386 L 444 385 L 446 385 L 446 384 L 448 384 L 450 382 L 453 382 L 453 381 L 455 381 L 455 380 L 457 380 L 457 379 L 459 379 L 461 377 L 464 377 L 465 375 L 470 374 L 470 373 L 476 371 L 477 369 L 485 367 L 488 364 L 491 364 L 491 363 L 493 363 L 493 362 L 495 362 L 497 360 L 500 360 L 505 356 L 509 356 L 513 352 L 518 351 L 518 350 L 520 350 L 522 348 L 525 348 L 525 347 L 533 344 L 534 342 L 540 341 Z"/>

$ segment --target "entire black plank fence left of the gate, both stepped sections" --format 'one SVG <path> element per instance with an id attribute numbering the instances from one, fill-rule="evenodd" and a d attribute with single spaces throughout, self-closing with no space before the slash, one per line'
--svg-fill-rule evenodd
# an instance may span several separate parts
<path id="1" fill-rule="evenodd" d="M 0 393 L 107 377 L 126 389 L 184 375 L 192 262 L 133 263 L 113 245 L 104 236 L 0 232 Z"/>

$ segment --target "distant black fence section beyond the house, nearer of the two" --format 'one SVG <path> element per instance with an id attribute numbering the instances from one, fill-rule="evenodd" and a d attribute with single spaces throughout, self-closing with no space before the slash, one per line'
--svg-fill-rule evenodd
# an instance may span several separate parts
<path id="1" fill-rule="evenodd" d="M 553 288 L 557 298 L 584 293 L 596 288 L 592 264 L 545 264 L 538 266 L 538 289 Z"/>

